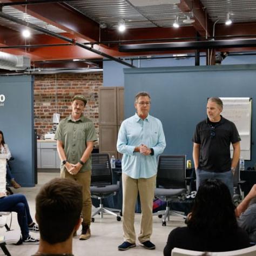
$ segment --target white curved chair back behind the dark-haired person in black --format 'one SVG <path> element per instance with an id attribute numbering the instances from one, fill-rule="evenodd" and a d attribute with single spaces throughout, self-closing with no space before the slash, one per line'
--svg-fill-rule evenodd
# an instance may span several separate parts
<path id="1" fill-rule="evenodd" d="M 235 251 L 228 251 L 228 252 L 199 252 L 199 251 L 191 251 L 191 250 L 185 250 L 181 248 L 173 248 L 172 250 L 172 256 L 201 256 L 201 255 L 207 255 L 207 256 L 254 256 L 256 255 L 256 245 L 235 250 Z"/>

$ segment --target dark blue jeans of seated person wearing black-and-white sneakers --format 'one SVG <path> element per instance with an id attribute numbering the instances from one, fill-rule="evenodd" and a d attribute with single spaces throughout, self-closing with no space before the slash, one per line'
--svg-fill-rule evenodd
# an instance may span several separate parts
<path id="1" fill-rule="evenodd" d="M 33 222 L 28 201 L 23 194 L 12 194 L 7 197 L 0 198 L 0 211 L 17 212 L 19 227 L 21 227 L 22 240 L 29 236 L 28 225 Z"/>

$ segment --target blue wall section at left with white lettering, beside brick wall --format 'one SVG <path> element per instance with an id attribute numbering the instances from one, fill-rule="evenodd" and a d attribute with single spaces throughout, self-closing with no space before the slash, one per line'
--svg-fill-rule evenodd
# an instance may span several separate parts
<path id="1" fill-rule="evenodd" d="M 12 173 L 22 186 L 35 186 L 33 133 L 33 78 L 0 77 L 0 130 L 12 156 Z"/>

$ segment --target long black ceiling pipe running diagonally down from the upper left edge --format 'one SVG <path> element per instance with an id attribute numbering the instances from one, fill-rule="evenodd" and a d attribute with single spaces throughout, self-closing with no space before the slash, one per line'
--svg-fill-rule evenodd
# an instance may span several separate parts
<path id="1" fill-rule="evenodd" d="M 2 18 L 5 18 L 5 19 L 8 19 L 9 21 L 12 21 L 12 22 L 15 22 L 15 23 L 18 23 L 18 24 L 21 24 L 23 26 L 27 26 L 28 28 L 31 28 L 31 29 L 35 29 L 37 31 L 40 31 L 42 33 L 45 33 L 46 35 L 50 35 L 50 36 L 53 36 L 53 37 L 56 37 L 56 38 L 59 38 L 59 39 L 62 39 L 63 41 L 66 41 L 66 42 L 69 42 L 73 45 L 77 45 L 77 46 L 80 46 L 81 48 L 85 49 L 85 50 L 88 50 L 88 51 L 91 51 L 91 52 L 94 52 L 100 56 L 103 56 L 105 58 L 109 58 L 109 59 L 112 59 L 114 60 L 115 62 L 118 62 L 120 64 L 123 64 L 125 66 L 129 66 L 130 68 L 136 68 L 136 66 L 133 66 L 131 65 L 130 63 L 127 63 L 127 62 L 124 62 L 123 60 L 120 60 L 120 59 L 117 59 L 117 58 L 114 58 L 104 52 L 101 52 L 101 51 L 98 51 L 96 49 L 93 49 L 93 48 L 90 48 L 89 46 L 86 46 L 84 45 L 83 43 L 80 43 L 74 39 L 71 39 L 69 37 L 66 37 L 66 36 L 62 36 L 62 35 L 59 35 L 58 33 L 55 33 L 55 32 L 52 32 L 48 29 L 44 29 L 44 28 L 41 28 L 40 26 L 37 26 L 35 24 L 32 24 L 32 23 L 29 23 L 29 22 L 25 22 L 25 21 L 22 21 L 22 19 L 18 19 L 18 18 L 15 18 L 11 15 L 8 15 L 8 14 L 4 14 L 4 12 L 1 12 L 0 11 L 0 17 Z"/>

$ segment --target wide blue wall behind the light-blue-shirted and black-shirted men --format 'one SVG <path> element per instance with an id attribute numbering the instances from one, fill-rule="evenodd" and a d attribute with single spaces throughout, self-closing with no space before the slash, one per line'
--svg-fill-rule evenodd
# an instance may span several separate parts
<path id="1" fill-rule="evenodd" d="M 256 65 L 187 66 L 125 69 L 125 117 L 134 114 L 134 95 L 152 96 L 151 114 L 164 126 L 165 154 L 186 154 L 192 159 L 192 136 L 196 124 L 206 118 L 207 98 L 252 97 L 252 142 L 255 140 Z M 253 166 L 256 161 L 252 145 Z"/>

